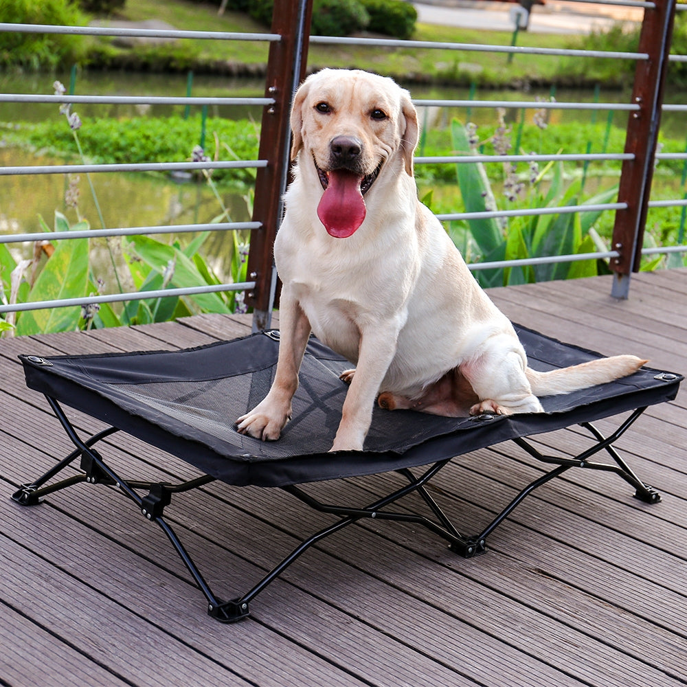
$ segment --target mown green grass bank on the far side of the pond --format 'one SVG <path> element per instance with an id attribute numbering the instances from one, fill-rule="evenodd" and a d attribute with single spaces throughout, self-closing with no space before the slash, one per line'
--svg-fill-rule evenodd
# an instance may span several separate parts
<path id="1" fill-rule="evenodd" d="M 124 19 L 161 19 L 185 30 L 227 32 L 269 32 L 247 14 L 217 15 L 216 5 L 184 0 L 136 0 L 124 8 Z M 511 32 L 478 31 L 418 23 L 413 36 L 418 41 L 510 45 Z M 581 47 L 581 37 L 520 32 L 517 45 L 548 48 Z M 269 46 L 254 41 L 177 41 L 157 47 L 117 47 L 111 39 L 99 39 L 91 48 L 91 63 L 125 63 L 153 69 L 218 69 L 221 63 L 264 65 Z M 349 45 L 311 45 L 308 64 L 317 67 L 360 67 L 407 80 L 433 80 L 451 84 L 503 87 L 523 83 L 589 85 L 597 80 L 596 68 L 589 71 L 578 63 L 557 56 L 492 54 L 450 49 L 383 48 Z M 213 66 L 214 65 L 214 66 Z M 603 71 L 599 63 L 598 69 Z M 613 82 L 604 73 L 605 82 Z M 617 85 L 614 83 L 613 85 Z"/>

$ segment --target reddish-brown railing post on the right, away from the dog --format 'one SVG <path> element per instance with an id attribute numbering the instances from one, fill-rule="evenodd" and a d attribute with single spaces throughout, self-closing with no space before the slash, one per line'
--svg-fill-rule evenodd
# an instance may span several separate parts
<path id="1" fill-rule="evenodd" d="M 625 153 L 634 159 L 623 162 L 618 190 L 618 202 L 627 209 L 616 212 L 613 225 L 613 249 L 620 253 L 610 265 L 616 298 L 628 297 L 630 273 L 640 269 L 674 18 L 675 0 L 655 0 L 655 7 L 644 10 L 638 52 L 649 59 L 638 61 L 635 70 L 632 102 L 640 109 L 630 114 L 625 139 Z"/>

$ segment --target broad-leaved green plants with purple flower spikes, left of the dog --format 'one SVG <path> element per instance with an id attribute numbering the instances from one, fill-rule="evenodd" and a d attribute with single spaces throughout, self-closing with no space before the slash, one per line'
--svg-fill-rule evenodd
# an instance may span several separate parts
<path id="1" fill-rule="evenodd" d="M 58 95 L 65 93 L 65 88 L 60 82 L 55 82 L 54 87 Z M 82 126 L 80 117 L 71 111 L 69 104 L 60 106 L 60 113 L 65 115 L 67 119 L 79 157 L 85 160 L 81 140 L 77 133 Z M 215 135 L 216 149 L 219 146 L 219 139 Z M 202 148 L 196 146 L 192 153 L 192 159 L 201 161 L 210 158 L 205 155 Z M 230 221 L 229 212 L 216 188 L 211 173 L 203 170 L 203 174 L 221 207 L 221 213 L 213 221 Z M 98 209 L 100 223 L 104 228 L 104 218 L 100 212 L 100 206 L 90 179 L 89 187 Z M 247 201 L 251 202 L 251 196 L 247 196 Z M 89 223 L 80 216 L 78 210 L 78 177 L 69 179 L 65 204 L 74 209 L 77 222 L 70 224 L 64 214 L 56 212 L 55 231 L 88 231 Z M 49 232 L 43 218 L 40 218 L 40 221 L 43 230 Z M 170 229 L 173 230 L 172 227 Z M 133 236 L 124 245 L 124 264 L 128 266 L 126 280 L 133 283 L 137 291 L 142 292 L 160 291 L 168 288 L 185 289 L 202 284 L 220 284 L 221 280 L 199 254 L 199 249 L 208 236 L 210 236 L 210 232 L 203 232 L 186 247 L 181 247 L 177 240 L 171 244 L 166 244 L 149 236 Z M 120 243 L 123 242 L 120 240 Z M 122 279 L 117 272 L 117 264 L 115 264 L 113 250 L 109 243 L 108 250 L 117 289 L 119 293 L 124 293 Z M 247 246 L 234 232 L 232 273 L 235 282 L 246 280 L 246 262 Z M 14 260 L 10 251 L 2 244 L 0 245 L 0 278 L 2 300 L 5 304 L 12 305 L 71 298 L 81 299 L 89 295 L 100 294 L 105 287 L 104 280 L 97 278 L 91 269 L 88 238 L 64 239 L 58 242 L 56 246 L 49 241 L 37 241 L 34 258 L 21 260 L 19 263 Z M 0 320 L 2 324 L 0 333 L 3 335 L 7 333 L 31 335 L 78 328 L 148 324 L 150 322 L 166 322 L 176 317 L 198 313 L 230 313 L 243 308 L 243 294 L 234 292 L 230 292 L 229 295 L 216 292 L 153 297 L 132 300 L 123 307 L 92 302 L 81 306 L 80 309 L 59 307 L 10 313 L 8 318 Z"/>

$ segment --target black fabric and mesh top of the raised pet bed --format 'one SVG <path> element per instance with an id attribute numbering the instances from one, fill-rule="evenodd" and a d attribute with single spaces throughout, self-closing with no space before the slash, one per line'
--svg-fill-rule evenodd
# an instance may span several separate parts
<path id="1" fill-rule="evenodd" d="M 598 354 L 517 327 L 532 368 L 581 363 Z M 311 339 L 282 438 L 239 434 L 234 420 L 271 384 L 278 334 L 176 351 L 21 355 L 27 386 L 126 431 L 219 480 L 284 486 L 428 464 L 504 440 L 561 429 L 675 398 L 682 376 L 642 368 L 592 389 L 542 398 L 543 414 L 440 418 L 376 408 L 365 451 L 327 453 L 341 419 L 350 363 Z"/>

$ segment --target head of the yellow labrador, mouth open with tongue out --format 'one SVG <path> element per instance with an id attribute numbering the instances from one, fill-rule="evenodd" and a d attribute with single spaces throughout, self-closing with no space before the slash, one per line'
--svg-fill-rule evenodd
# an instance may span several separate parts
<path id="1" fill-rule="evenodd" d="M 363 196 L 387 168 L 413 175 L 418 117 L 409 93 L 390 78 L 347 69 L 309 76 L 295 95 L 291 130 L 291 157 L 301 154 L 300 166 L 317 173 L 317 214 L 336 238 L 363 223 Z"/>

